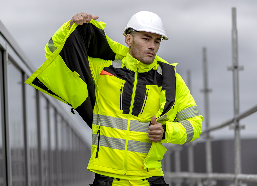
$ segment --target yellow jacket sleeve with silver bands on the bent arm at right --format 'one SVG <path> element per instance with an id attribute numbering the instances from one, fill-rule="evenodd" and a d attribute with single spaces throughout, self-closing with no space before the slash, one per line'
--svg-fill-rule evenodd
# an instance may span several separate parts
<path id="1" fill-rule="evenodd" d="M 174 121 L 163 121 L 166 125 L 165 139 L 162 143 L 184 144 L 200 137 L 203 116 L 197 108 L 181 76 L 176 73 L 177 85 L 177 115 Z"/>

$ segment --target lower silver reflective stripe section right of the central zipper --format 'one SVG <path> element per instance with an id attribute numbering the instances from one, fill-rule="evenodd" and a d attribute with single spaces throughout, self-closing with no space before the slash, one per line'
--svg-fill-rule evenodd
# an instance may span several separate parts
<path id="1" fill-rule="evenodd" d="M 139 142 L 128 140 L 127 150 L 130 152 L 148 153 L 151 148 L 152 142 Z"/>

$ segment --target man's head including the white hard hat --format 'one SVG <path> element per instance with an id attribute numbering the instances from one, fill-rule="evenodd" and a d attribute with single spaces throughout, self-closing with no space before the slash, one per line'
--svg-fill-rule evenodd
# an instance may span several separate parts
<path id="1" fill-rule="evenodd" d="M 161 39 L 168 40 L 161 18 L 152 12 L 141 11 L 131 17 L 124 29 L 129 53 L 144 64 L 151 64 Z"/>

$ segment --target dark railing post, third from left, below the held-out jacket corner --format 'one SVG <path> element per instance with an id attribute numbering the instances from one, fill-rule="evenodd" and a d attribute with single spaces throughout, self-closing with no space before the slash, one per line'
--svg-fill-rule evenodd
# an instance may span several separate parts
<path id="1" fill-rule="evenodd" d="M 36 121 L 37 121 L 37 133 L 38 133 L 39 186 L 43 186 L 43 157 L 42 157 L 42 143 L 41 143 L 39 90 L 36 90 Z"/>

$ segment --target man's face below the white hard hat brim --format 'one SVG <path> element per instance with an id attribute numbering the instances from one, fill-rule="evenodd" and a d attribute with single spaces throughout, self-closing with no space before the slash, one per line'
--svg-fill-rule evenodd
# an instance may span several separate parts
<path id="1" fill-rule="evenodd" d="M 151 64 L 159 50 L 161 36 L 150 32 L 139 31 L 134 34 L 130 54 L 141 63 Z"/>

